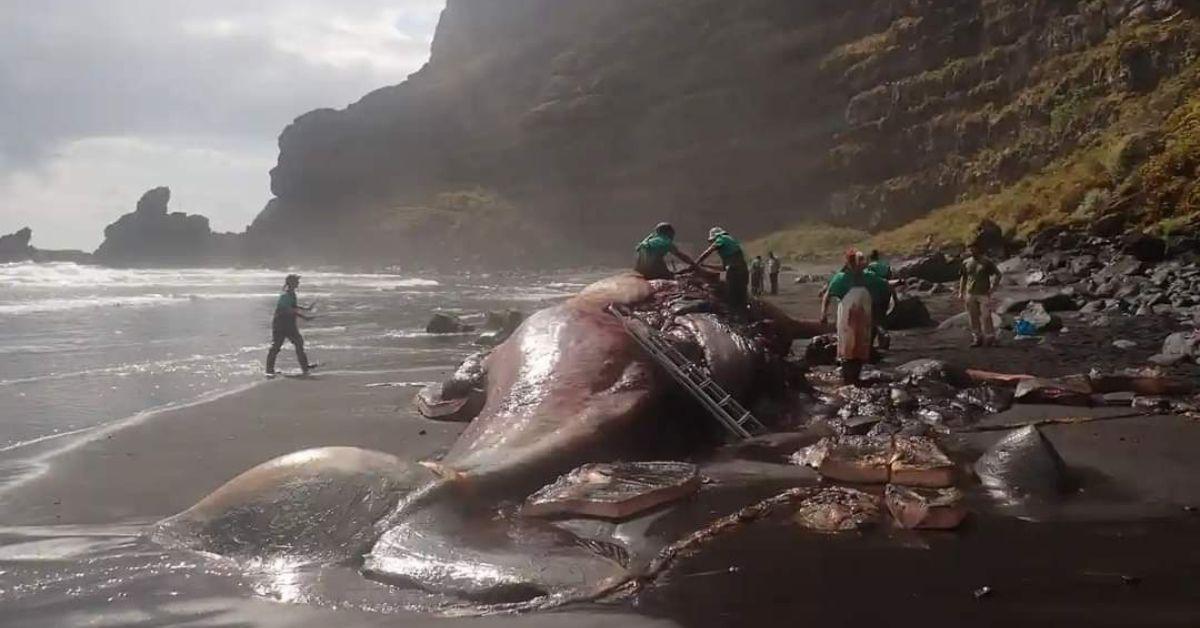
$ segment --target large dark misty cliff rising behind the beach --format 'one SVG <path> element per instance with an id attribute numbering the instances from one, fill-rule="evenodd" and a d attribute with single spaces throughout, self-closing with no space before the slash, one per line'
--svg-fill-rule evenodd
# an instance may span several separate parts
<path id="1" fill-rule="evenodd" d="M 626 253 L 659 220 L 890 228 L 1096 142 L 1193 68 L 1196 25 L 1172 0 L 449 0 L 425 68 L 284 130 L 248 235 L 421 263 Z"/>

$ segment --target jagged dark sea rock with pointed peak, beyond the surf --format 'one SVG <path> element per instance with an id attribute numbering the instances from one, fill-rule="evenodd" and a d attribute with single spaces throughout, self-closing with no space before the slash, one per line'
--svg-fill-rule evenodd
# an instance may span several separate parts
<path id="1" fill-rule="evenodd" d="M 239 238 L 212 233 L 209 219 L 168 213 L 169 187 L 142 195 L 137 209 L 104 228 L 96 261 L 110 265 L 193 265 L 228 263 L 240 255 Z"/>

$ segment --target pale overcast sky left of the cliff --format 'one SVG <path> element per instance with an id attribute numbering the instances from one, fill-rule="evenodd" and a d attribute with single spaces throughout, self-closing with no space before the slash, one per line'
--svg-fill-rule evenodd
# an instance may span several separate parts
<path id="1" fill-rule="evenodd" d="M 0 234 L 95 249 L 167 185 L 242 231 L 280 131 L 400 83 L 445 0 L 0 1 Z"/>

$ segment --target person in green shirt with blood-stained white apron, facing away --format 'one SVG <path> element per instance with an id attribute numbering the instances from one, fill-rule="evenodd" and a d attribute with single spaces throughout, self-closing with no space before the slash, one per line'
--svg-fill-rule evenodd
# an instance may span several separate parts
<path id="1" fill-rule="evenodd" d="M 863 364 L 871 359 L 872 294 L 888 289 L 887 282 L 866 273 L 862 252 L 846 252 L 846 265 L 829 280 L 821 298 L 821 324 L 829 324 L 829 300 L 838 299 L 838 360 L 846 384 L 857 384 Z"/>

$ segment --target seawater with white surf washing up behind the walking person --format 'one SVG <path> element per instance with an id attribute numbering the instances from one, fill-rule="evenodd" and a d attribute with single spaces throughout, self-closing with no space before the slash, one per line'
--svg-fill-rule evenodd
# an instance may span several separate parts
<path id="1" fill-rule="evenodd" d="M 530 311 L 587 277 L 0 265 L 0 451 L 263 379 L 283 276 L 299 273 L 310 359 L 326 370 L 452 364 L 472 337 L 424 333 L 434 311 Z M 515 289 L 520 287 L 520 289 Z M 296 371 L 286 345 L 284 372 Z M 6 455 L 5 457 L 13 457 Z"/>

